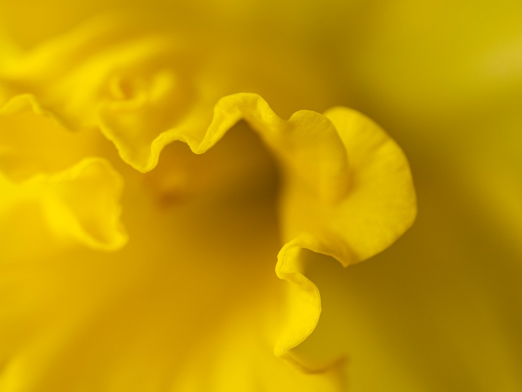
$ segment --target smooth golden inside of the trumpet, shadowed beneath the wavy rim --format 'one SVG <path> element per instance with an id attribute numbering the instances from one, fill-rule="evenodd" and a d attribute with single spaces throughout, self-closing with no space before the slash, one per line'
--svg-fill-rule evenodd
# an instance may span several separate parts
<path id="1" fill-rule="evenodd" d="M 191 198 L 169 198 L 175 189 L 161 182 L 164 176 L 154 178 L 153 171 L 144 177 L 121 165 L 127 179 L 122 218 L 132 239 L 126 247 L 62 249 L 38 262 L 2 267 L 0 293 L 8 301 L 0 305 L 0 389 L 176 390 L 182 383 L 198 390 L 201 377 L 184 379 L 190 359 L 192 371 L 205 375 L 207 390 L 230 390 L 234 384 L 227 381 L 240 370 L 222 368 L 219 356 L 213 358 L 219 353 L 208 350 L 221 348 L 226 336 L 236 352 L 254 355 L 259 375 L 251 379 L 241 370 L 246 384 L 238 388 L 271 383 L 272 372 L 282 385 L 293 383 L 299 372 L 272 355 L 284 300 L 273 271 L 279 246 L 275 173 L 252 136 L 231 134 L 204 155 L 172 145 L 157 168 L 196 174 L 199 166 L 212 178 L 222 174 L 216 163 L 229 162 L 229 169 L 240 168 L 233 193 L 219 184 L 199 185 L 194 175 L 195 183 L 187 184 L 195 187 Z M 230 154 L 238 146 L 247 153 Z M 171 166 L 183 154 L 179 147 L 188 150 L 187 160 Z M 241 170 L 253 157 L 268 180 L 261 187 Z M 259 341 L 245 338 L 243 328 L 266 347 L 256 351 Z M 255 361 L 257 353 L 263 361 Z M 329 377 L 315 379 L 316 386 L 333 385 Z"/>

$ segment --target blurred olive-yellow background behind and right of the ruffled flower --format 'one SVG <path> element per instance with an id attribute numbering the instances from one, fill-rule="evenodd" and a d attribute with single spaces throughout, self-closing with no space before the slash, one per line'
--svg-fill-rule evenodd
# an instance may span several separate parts
<path id="1" fill-rule="evenodd" d="M 0 26 L 27 47 L 105 7 L 1 4 Z M 347 354 L 353 391 L 521 390 L 522 3 L 147 7 L 166 26 L 244 47 L 243 88 L 255 88 L 281 117 L 350 106 L 381 124 L 410 160 L 416 224 L 357 266 L 311 260 L 323 313 L 299 352 L 317 361 Z M 263 68 L 263 82 L 252 64 Z"/>

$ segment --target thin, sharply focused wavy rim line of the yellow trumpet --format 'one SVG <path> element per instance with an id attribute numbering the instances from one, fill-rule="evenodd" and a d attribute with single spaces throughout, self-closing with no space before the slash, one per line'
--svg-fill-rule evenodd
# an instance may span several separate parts
<path id="1" fill-rule="evenodd" d="M 23 94 L 11 98 L 5 105 L 0 107 L 0 113 L 14 111 L 23 107 L 24 105 L 30 106 L 35 112 L 39 114 L 52 117 L 62 125 L 64 124 L 64 122 L 61 121 L 58 116 L 53 114 L 51 111 L 44 109 L 40 105 L 38 99 L 31 94 Z M 133 164 L 132 162 L 128 162 L 128 157 L 126 157 L 125 153 L 122 152 L 121 146 L 118 145 L 116 137 L 111 132 L 111 130 L 104 127 L 103 124 L 99 124 L 99 126 L 101 132 L 115 144 L 124 162 L 131 165 L 140 172 L 147 172 L 156 167 L 162 149 L 174 141 L 185 142 L 196 154 L 205 153 L 240 120 L 245 120 L 253 130 L 258 132 L 262 139 L 264 139 L 265 144 L 267 144 L 269 147 L 274 145 L 274 143 L 270 143 L 270 137 L 274 134 L 277 134 L 278 131 L 284 129 L 285 126 L 289 124 L 308 121 L 310 119 L 324 121 L 327 125 L 326 130 L 328 132 L 330 129 L 333 130 L 333 133 L 329 134 L 328 136 L 336 137 L 339 141 L 338 144 L 342 149 L 342 159 L 342 154 L 345 154 L 346 157 L 346 150 L 344 149 L 344 145 L 336 131 L 336 128 L 326 117 L 326 113 L 321 114 L 313 111 L 301 110 L 292 114 L 290 119 L 285 121 L 279 118 L 268 106 L 268 103 L 257 94 L 239 93 L 225 96 L 219 99 L 216 103 L 213 109 L 211 123 L 208 125 L 208 128 L 203 134 L 203 137 L 201 137 L 199 140 L 195 139 L 181 127 L 164 131 L 160 133 L 150 144 L 150 155 L 145 165 L 137 165 L 135 163 Z M 269 131 L 266 131 L 267 129 Z M 334 147 L 337 148 L 336 146 Z M 277 155 L 277 151 L 273 152 Z M 334 149 L 334 153 L 337 153 L 337 150 Z M 338 162 L 340 163 L 340 166 L 347 165 L 347 160 L 339 160 Z M 342 185 L 342 183 L 338 182 L 343 180 L 341 178 L 343 175 L 346 177 L 344 180 L 348 178 L 348 172 L 346 170 L 346 167 L 341 167 L 340 171 L 336 173 L 336 176 L 334 176 L 335 178 L 329 179 L 336 182 L 338 186 L 326 188 L 335 189 L 336 191 L 340 190 L 340 193 L 338 192 L 336 195 L 325 195 L 326 199 L 338 200 L 340 195 L 347 191 L 346 184 Z M 289 337 L 289 335 L 292 335 L 292 333 L 282 333 L 282 336 L 275 345 L 274 354 L 276 356 L 288 359 L 290 362 L 298 365 L 307 372 L 313 373 L 325 371 L 330 366 L 327 366 L 326 368 L 323 368 L 319 371 L 311 370 L 301 364 L 299 360 L 296 359 L 293 355 L 290 355 L 291 349 L 301 344 L 308 336 L 310 336 L 310 334 L 315 329 L 319 315 L 321 314 L 321 297 L 317 286 L 308 278 L 306 278 L 306 276 L 303 275 L 299 269 L 299 251 L 302 249 L 308 249 L 316 253 L 322 253 L 326 256 L 331 256 L 339 261 L 344 267 L 351 263 L 353 257 L 351 257 L 351 250 L 347 248 L 347 244 L 345 244 L 343 241 L 337 241 L 335 238 L 330 238 L 328 240 L 318 239 L 317 237 L 313 237 L 307 234 L 296 237 L 289 241 L 289 243 L 281 248 L 278 254 L 278 261 L 276 264 L 276 274 L 278 278 L 291 284 L 292 287 L 294 287 L 294 289 L 296 289 L 297 292 L 300 293 L 303 298 L 305 298 L 304 302 L 302 303 L 307 303 L 310 306 L 309 315 L 301 320 L 303 325 L 301 326 L 301 331 L 297 334 L 298 337 L 294 336 L 292 338 Z M 295 333 L 293 333 L 293 335 L 295 335 Z M 333 363 L 336 364 L 338 362 L 339 360 L 336 360 Z"/>

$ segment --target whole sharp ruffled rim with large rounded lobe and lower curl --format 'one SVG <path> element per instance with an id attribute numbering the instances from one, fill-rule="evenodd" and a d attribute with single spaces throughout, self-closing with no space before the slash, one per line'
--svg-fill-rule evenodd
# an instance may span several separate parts
<path id="1" fill-rule="evenodd" d="M 27 95 L 14 98 L 8 106 L 16 108 L 18 99 L 43 111 Z M 302 273 L 302 250 L 324 253 L 345 267 L 365 260 L 411 226 L 417 213 L 416 195 L 401 149 L 375 123 L 347 108 L 330 109 L 324 115 L 302 110 L 285 121 L 262 97 L 234 94 L 218 101 L 206 131 L 181 125 L 164 131 L 153 139 L 145 155 L 143 145 L 140 154 L 125 152 L 133 145 L 120 139 L 127 136 L 113 132 L 107 123 L 101 126 L 127 163 L 148 171 L 157 165 L 169 143 L 183 141 L 201 154 L 240 120 L 258 132 L 274 153 L 284 179 L 280 215 L 288 243 L 278 255 L 276 273 L 290 283 L 290 306 L 287 328 L 274 350 L 283 355 L 312 333 L 321 313 L 319 291 Z M 133 161 L 132 156 L 140 159 Z M 98 247 L 117 248 L 124 242 L 123 235 L 105 245 L 88 235 L 78 236 Z"/>

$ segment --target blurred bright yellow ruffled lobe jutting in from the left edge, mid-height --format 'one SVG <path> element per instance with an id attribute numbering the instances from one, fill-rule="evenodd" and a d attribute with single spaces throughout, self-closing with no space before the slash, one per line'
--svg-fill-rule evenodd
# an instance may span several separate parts
<path id="1" fill-rule="evenodd" d="M 2 252 L 16 258 L 20 251 L 31 250 L 31 230 L 50 234 L 64 245 L 120 249 L 127 242 L 120 221 L 122 188 L 123 179 L 103 158 L 85 158 L 66 171 L 35 175 L 22 183 L 0 177 L 3 238 L 14 239 L 5 241 Z"/>

